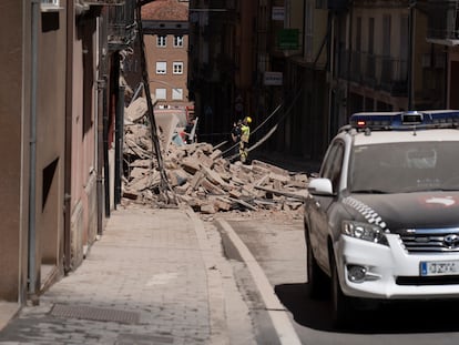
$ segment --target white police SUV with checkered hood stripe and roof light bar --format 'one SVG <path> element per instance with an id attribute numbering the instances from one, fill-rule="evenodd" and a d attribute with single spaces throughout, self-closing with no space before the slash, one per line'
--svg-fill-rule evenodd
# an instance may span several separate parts
<path id="1" fill-rule="evenodd" d="M 305 202 L 307 287 L 337 326 L 361 302 L 459 298 L 459 111 L 356 113 Z M 358 304 L 356 302 L 359 302 Z"/>

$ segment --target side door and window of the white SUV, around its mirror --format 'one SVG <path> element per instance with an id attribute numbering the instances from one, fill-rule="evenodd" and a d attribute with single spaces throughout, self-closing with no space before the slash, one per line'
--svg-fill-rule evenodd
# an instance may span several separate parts
<path id="1" fill-rule="evenodd" d="M 343 159 L 345 145 L 341 140 L 335 140 L 320 169 L 319 177 L 329 179 L 333 186 L 333 195 L 314 195 L 309 202 L 309 240 L 314 256 L 318 264 L 328 271 L 327 239 L 329 229 L 329 212 L 333 210 L 339 191 L 339 180 L 341 176 Z"/>

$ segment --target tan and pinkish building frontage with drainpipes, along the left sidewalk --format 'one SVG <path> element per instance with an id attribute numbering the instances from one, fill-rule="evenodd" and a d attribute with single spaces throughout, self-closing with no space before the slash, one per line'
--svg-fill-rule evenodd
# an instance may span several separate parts
<path id="1" fill-rule="evenodd" d="M 135 38 L 134 0 L 1 9 L 0 301 L 21 307 L 79 267 L 115 206 L 120 60 Z"/>

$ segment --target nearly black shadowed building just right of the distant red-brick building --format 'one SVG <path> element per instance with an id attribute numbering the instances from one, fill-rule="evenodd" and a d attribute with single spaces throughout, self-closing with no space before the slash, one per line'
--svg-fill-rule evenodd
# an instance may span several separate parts
<path id="1" fill-rule="evenodd" d="M 200 116 L 201 138 L 222 143 L 234 121 L 249 115 L 263 121 L 257 108 L 257 1 L 190 1 L 191 97 Z"/>

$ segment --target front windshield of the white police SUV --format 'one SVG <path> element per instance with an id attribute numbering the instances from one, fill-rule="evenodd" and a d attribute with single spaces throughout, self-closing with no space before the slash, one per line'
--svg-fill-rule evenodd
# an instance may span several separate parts
<path id="1" fill-rule="evenodd" d="M 458 142 L 355 146 L 349 166 L 354 193 L 459 191 Z"/>

